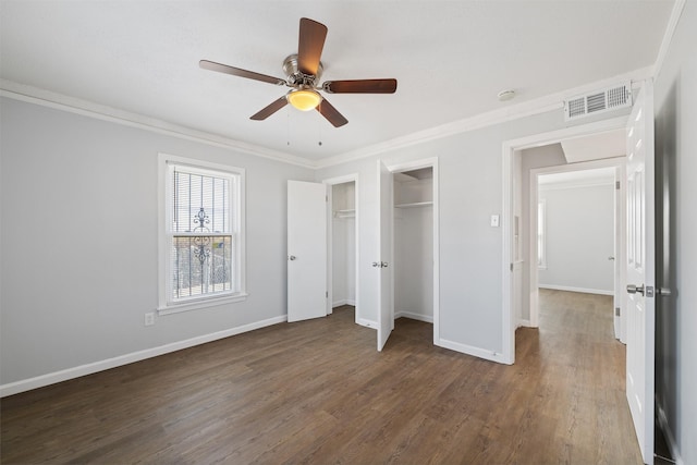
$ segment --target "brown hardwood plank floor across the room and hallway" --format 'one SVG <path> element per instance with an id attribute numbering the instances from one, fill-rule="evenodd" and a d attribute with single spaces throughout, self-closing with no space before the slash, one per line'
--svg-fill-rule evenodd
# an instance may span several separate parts
<path id="1" fill-rule="evenodd" d="M 378 353 L 343 307 L 9 396 L 1 462 L 641 463 L 611 301 L 541 302 L 513 366 L 408 319 Z"/>

